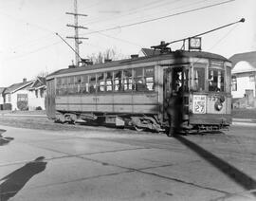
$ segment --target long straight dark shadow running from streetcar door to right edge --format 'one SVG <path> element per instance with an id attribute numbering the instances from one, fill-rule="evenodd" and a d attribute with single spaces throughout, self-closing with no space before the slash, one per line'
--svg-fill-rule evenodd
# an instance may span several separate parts
<path id="1" fill-rule="evenodd" d="M 189 147 L 197 155 L 210 162 L 212 166 L 220 170 L 223 174 L 229 176 L 230 179 L 242 186 L 245 190 L 256 189 L 256 181 L 249 175 L 231 166 L 229 163 L 217 157 L 216 155 L 212 155 L 209 151 L 203 149 L 185 137 L 175 136 L 174 138 L 176 138 L 185 146 Z M 253 192 L 253 194 L 256 195 L 255 192 Z"/>

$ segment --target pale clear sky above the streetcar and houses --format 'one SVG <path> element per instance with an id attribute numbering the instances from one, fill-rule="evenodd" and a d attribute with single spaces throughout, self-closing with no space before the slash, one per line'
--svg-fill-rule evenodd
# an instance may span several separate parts
<path id="1" fill-rule="evenodd" d="M 129 56 L 160 41 L 190 37 L 212 28 L 238 23 L 202 37 L 202 49 L 227 58 L 256 51 L 255 0 L 77 0 L 80 45 L 86 58 L 107 48 Z M 0 0 L 0 87 L 34 80 L 66 68 L 75 54 L 74 0 Z M 154 20 L 154 21 L 153 21 Z M 147 23 L 143 23 L 148 21 Z M 132 25 L 133 24 L 133 25 Z M 171 46 L 173 50 L 182 44 Z"/>

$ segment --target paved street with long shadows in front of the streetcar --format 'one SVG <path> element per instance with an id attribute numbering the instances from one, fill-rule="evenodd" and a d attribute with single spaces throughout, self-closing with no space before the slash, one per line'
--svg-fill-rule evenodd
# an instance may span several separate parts
<path id="1" fill-rule="evenodd" d="M 174 138 L 0 126 L 0 200 L 253 200 L 255 128 Z"/>

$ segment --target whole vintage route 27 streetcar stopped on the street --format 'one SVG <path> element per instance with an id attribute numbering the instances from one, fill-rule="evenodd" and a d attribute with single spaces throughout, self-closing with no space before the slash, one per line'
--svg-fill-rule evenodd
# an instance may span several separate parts
<path id="1" fill-rule="evenodd" d="M 183 130 L 228 128 L 229 60 L 200 49 L 171 51 L 161 47 L 152 49 L 148 56 L 73 66 L 48 75 L 47 117 L 58 122 L 97 121 L 159 132 L 170 127 L 169 101 L 179 91 Z"/>

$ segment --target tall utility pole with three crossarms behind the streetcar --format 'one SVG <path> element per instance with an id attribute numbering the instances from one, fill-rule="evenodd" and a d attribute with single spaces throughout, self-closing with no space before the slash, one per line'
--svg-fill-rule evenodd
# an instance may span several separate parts
<path id="1" fill-rule="evenodd" d="M 78 13 L 78 4 L 77 4 L 77 0 L 74 0 L 74 12 L 65 12 L 65 14 L 71 14 L 74 16 L 74 25 L 66 25 L 67 27 L 74 27 L 75 29 L 75 36 L 67 36 L 66 38 L 68 39 L 75 39 L 75 64 L 77 66 L 79 66 L 80 64 L 80 53 L 79 53 L 79 45 L 82 44 L 82 41 L 80 41 L 81 39 L 88 39 L 88 38 L 84 38 L 84 37 L 79 37 L 79 28 L 84 28 L 87 29 L 87 27 L 82 27 L 79 26 L 78 24 L 78 17 L 79 16 L 83 16 L 86 17 L 86 14 L 79 14 Z"/>

